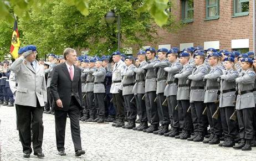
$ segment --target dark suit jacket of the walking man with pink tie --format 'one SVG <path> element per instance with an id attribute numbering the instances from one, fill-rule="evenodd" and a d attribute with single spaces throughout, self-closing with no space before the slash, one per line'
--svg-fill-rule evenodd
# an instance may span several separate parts
<path id="1" fill-rule="evenodd" d="M 82 91 L 81 91 L 81 69 L 74 66 L 74 77 L 71 81 L 66 64 L 60 64 L 53 68 L 52 81 L 50 82 L 50 91 L 52 92 L 55 110 L 68 111 L 71 101 L 71 92 L 73 92 L 79 108 L 82 107 Z M 57 106 L 56 101 L 62 100 L 63 108 Z"/>

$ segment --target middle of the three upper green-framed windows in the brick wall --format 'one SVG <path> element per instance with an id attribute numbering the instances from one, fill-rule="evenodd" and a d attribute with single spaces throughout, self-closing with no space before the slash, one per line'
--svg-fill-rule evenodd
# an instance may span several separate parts
<path id="1" fill-rule="evenodd" d="M 219 18 L 219 0 L 206 0 L 206 19 Z"/>

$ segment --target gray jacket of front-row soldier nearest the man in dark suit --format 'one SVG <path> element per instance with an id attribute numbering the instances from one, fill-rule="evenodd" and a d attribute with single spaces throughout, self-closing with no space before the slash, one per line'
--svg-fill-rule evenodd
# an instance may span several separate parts
<path id="1" fill-rule="evenodd" d="M 86 84 L 84 85 L 84 92 L 93 92 L 93 87 L 94 87 L 94 76 L 93 72 L 95 72 L 97 69 L 96 67 L 92 68 L 87 68 L 84 69 L 84 73 L 87 74 L 86 76 Z"/>

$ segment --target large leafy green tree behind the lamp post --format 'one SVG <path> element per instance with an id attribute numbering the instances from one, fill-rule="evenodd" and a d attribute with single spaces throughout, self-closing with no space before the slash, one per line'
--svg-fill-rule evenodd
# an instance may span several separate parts
<path id="1" fill-rule="evenodd" d="M 117 24 L 105 22 L 109 11 L 121 16 L 122 45 L 156 43 L 156 26 L 148 12 L 136 12 L 143 0 L 95 0 L 89 2 L 89 14 L 85 17 L 65 1 L 47 1 L 35 11 L 29 12 L 30 20 L 21 18 L 24 44 L 35 44 L 40 56 L 45 53 L 61 54 L 63 49 L 88 48 L 90 54 L 109 54 L 117 49 Z M 171 29 L 178 24 L 168 14 Z M 175 27 L 174 27 L 175 26 Z M 166 25 L 165 28 L 170 28 Z"/>

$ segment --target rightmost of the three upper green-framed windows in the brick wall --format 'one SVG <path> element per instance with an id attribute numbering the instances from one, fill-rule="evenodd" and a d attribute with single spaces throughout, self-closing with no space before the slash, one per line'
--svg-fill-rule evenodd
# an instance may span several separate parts
<path id="1" fill-rule="evenodd" d="M 249 14 L 249 0 L 233 0 L 234 17 Z"/>

